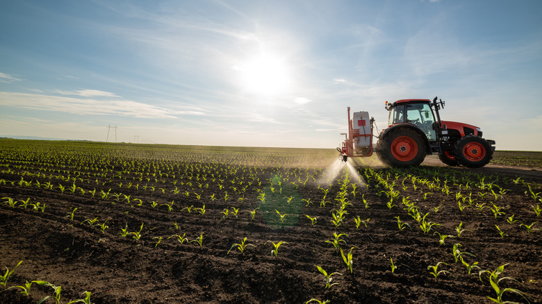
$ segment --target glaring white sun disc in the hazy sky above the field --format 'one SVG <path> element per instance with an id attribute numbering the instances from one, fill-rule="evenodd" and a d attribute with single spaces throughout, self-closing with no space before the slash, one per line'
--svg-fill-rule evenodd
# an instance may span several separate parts
<path id="1" fill-rule="evenodd" d="M 249 93 L 261 96 L 285 94 L 292 86 L 290 69 L 284 58 L 261 54 L 236 67 L 240 85 Z"/>

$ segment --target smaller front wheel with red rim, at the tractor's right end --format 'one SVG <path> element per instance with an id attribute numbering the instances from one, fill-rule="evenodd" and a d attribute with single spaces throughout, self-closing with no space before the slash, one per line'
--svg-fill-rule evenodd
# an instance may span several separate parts
<path id="1" fill-rule="evenodd" d="M 467 135 L 456 142 L 454 155 L 459 164 L 479 168 L 484 167 L 493 158 L 493 150 L 482 137 Z"/>

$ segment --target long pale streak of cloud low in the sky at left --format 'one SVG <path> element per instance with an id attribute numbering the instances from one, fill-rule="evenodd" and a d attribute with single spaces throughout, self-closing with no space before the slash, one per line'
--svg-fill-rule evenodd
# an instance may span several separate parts
<path id="1" fill-rule="evenodd" d="M 88 94 L 92 96 L 96 93 L 81 92 L 80 96 L 88 96 Z M 74 115 L 118 115 L 147 119 L 176 118 L 175 115 L 203 115 L 202 112 L 174 111 L 138 101 L 77 99 L 66 96 L 13 92 L 0 92 L 0 105 L 66 112 Z"/>

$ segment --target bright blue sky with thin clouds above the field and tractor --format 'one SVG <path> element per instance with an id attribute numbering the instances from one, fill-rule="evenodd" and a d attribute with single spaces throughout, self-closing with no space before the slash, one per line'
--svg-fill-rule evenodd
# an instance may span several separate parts
<path id="1" fill-rule="evenodd" d="M 1 1 L 0 135 L 331 148 L 446 101 L 542 151 L 542 1 Z M 109 141 L 113 138 L 111 129 Z"/>

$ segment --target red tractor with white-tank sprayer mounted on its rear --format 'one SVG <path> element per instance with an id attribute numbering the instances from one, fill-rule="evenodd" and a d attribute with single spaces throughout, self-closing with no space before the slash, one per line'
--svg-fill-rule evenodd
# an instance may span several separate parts
<path id="1" fill-rule="evenodd" d="M 373 151 L 391 167 L 418 166 L 425 155 L 437 153 L 447 165 L 483 167 L 493 157 L 494 140 L 484 140 L 482 130 L 470 124 L 441 121 L 438 110 L 444 101 L 429 99 L 402 99 L 388 104 L 388 128 L 378 135 L 377 146 L 372 145 L 372 126 L 368 112 L 354 112 L 350 119 L 348 108 L 348 133 L 337 150 L 339 158 L 368 157 Z"/>

